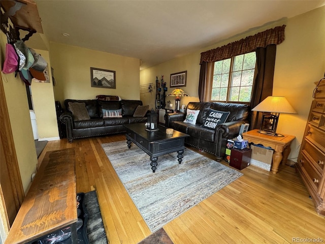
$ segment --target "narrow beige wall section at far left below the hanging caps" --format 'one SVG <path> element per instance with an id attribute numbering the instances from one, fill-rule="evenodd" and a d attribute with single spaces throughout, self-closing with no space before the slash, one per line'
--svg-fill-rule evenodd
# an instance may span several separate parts
<path id="1" fill-rule="evenodd" d="M 3 66 L 7 37 L 3 32 L 1 32 L 0 37 L 0 63 Z M 15 73 L 3 74 L 1 72 L 1 75 L 5 89 L 5 96 L 17 153 L 21 181 L 23 189 L 26 193 L 30 185 L 30 176 L 36 171 L 37 165 L 37 154 L 31 129 L 26 88 L 23 81 L 21 81 L 19 78 L 19 75 L 16 78 Z"/>

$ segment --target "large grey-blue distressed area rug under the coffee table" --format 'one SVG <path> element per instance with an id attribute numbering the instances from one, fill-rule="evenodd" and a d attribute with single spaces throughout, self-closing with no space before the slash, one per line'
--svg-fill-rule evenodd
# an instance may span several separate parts
<path id="1" fill-rule="evenodd" d="M 126 141 L 102 147 L 152 232 L 242 175 L 190 149 L 181 164 L 177 153 L 158 157 L 152 173 L 149 156 L 134 143 L 130 149 Z"/>

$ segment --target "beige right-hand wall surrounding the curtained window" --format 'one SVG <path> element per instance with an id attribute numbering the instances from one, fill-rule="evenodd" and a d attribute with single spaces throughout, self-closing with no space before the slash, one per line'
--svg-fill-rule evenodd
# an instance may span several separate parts
<path id="1" fill-rule="evenodd" d="M 142 70 L 140 72 L 140 84 L 154 82 L 156 75 L 159 77 L 165 75 L 165 81 L 169 86 L 170 74 L 187 70 L 187 84 L 182 89 L 190 97 L 182 98 L 181 104 L 199 101 L 198 84 L 201 52 L 282 24 L 286 24 L 285 41 L 277 46 L 273 95 L 285 96 L 298 112 L 294 115 L 281 114 L 277 130 L 284 134 L 296 136 L 297 139 L 291 145 L 289 158 L 297 161 L 299 146 L 312 101 L 313 82 L 318 81 L 325 71 L 325 7 L 268 26 L 254 28 L 253 31 L 217 43 L 196 53 Z M 168 91 L 171 90 L 169 87 Z M 141 100 L 154 106 L 154 94 L 151 96 L 143 94 Z M 168 100 L 169 98 L 166 99 L 166 102 Z"/>

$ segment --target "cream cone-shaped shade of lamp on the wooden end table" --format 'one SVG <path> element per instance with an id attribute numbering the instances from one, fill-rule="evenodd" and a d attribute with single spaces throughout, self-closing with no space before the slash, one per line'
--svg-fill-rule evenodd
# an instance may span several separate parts
<path id="1" fill-rule="evenodd" d="M 271 113 L 297 113 L 285 97 L 269 96 L 259 103 L 252 111 Z"/>

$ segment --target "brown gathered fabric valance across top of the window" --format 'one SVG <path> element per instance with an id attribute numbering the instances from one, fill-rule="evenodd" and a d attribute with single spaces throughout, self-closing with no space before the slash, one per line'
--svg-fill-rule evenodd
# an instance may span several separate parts
<path id="1" fill-rule="evenodd" d="M 267 29 L 264 32 L 249 36 L 239 41 L 235 41 L 201 53 L 202 62 L 216 62 L 236 55 L 254 51 L 257 47 L 266 47 L 270 44 L 280 44 L 284 41 L 285 25 Z"/>

